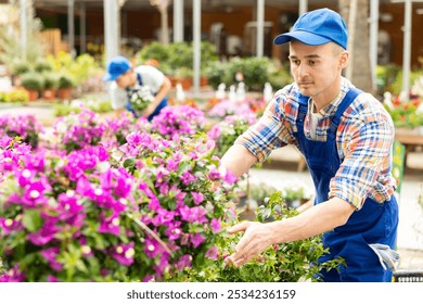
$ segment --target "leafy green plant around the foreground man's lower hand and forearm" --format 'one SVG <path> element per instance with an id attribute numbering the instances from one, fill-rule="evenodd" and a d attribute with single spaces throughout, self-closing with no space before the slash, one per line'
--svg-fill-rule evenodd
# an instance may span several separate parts
<path id="1" fill-rule="evenodd" d="M 282 193 L 275 192 L 269 198 L 266 206 L 258 207 L 256 221 L 283 220 L 296 215 L 295 210 L 285 206 Z M 230 220 L 227 223 L 231 225 Z M 306 240 L 272 245 L 241 267 L 226 266 L 223 258 L 231 254 L 240 238 L 239 235 L 223 235 L 222 238 L 216 240 L 221 252 L 213 265 L 203 267 L 201 271 L 187 268 L 184 274 L 176 277 L 175 280 L 202 282 L 318 281 L 317 276 L 322 269 L 330 270 L 344 264 L 341 257 L 322 264 L 318 263 L 318 258 L 329 251 L 323 248 L 321 237 L 317 236 Z"/>

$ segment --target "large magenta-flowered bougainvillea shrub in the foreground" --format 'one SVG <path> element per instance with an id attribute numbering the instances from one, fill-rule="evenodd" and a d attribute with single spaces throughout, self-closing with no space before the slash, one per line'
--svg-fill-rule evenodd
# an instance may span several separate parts
<path id="1" fill-rule="evenodd" d="M 163 280 L 217 258 L 231 192 L 210 186 L 234 177 L 220 177 L 213 141 L 126 140 L 120 155 L 88 140 L 74 151 L 2 141 L 12 161 L 0 187 L 1 281 Z"/>

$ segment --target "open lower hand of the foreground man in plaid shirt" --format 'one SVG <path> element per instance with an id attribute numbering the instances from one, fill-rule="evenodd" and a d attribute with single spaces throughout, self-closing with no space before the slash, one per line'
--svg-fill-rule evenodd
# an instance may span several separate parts
<path id="1" fill-rule="evenodd" d="M 265 224 L 244 221 L 228 228 L 229 233 L 241 231 L 245 231 L 245 233 L 235 245 L 235 252 L 225 258 L 227 265 L 232 263 L 234 266 L 239 267 L 271 245 L 269 237 L 272 232 Z"/>

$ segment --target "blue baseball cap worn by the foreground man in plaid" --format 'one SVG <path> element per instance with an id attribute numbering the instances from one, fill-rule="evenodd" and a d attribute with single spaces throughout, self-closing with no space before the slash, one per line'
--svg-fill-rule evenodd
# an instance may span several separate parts
<path id="1" fill-rule="evenodd" d="M 299 16 L 291 31 L 279 35 L 274 38 L 273 43 L 284 45 L 291 39 L 309 46 L 320 46 L 333 41 L 346 50 L 348 33 L 338 13 L 330 9 L 319 9 Z"/>

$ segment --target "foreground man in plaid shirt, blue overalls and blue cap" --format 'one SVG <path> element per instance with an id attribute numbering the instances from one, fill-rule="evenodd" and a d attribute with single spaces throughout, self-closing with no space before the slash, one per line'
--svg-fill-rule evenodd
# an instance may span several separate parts
<path id="1" fill-rule="evenodd" d="M 330 254 L 345 258 L 323 281 L 390 281 L 398 205 L 390 175 L 393 122 L 382 104 L 342 76 L 348 62 L 347 29 L 334 11 L 302 15 L 292 30 L 274 39 L 290 42 L 295 83 L 275 93 L 264 116 L 221 160 L 236 176 L 271 150 L 294 144 L 304 154 L 316 186 L 315 206 L 298 216 L 229 229 L 244 231 L 227 257 L 243 265 L 269 245 L 323 235 Z"/>

